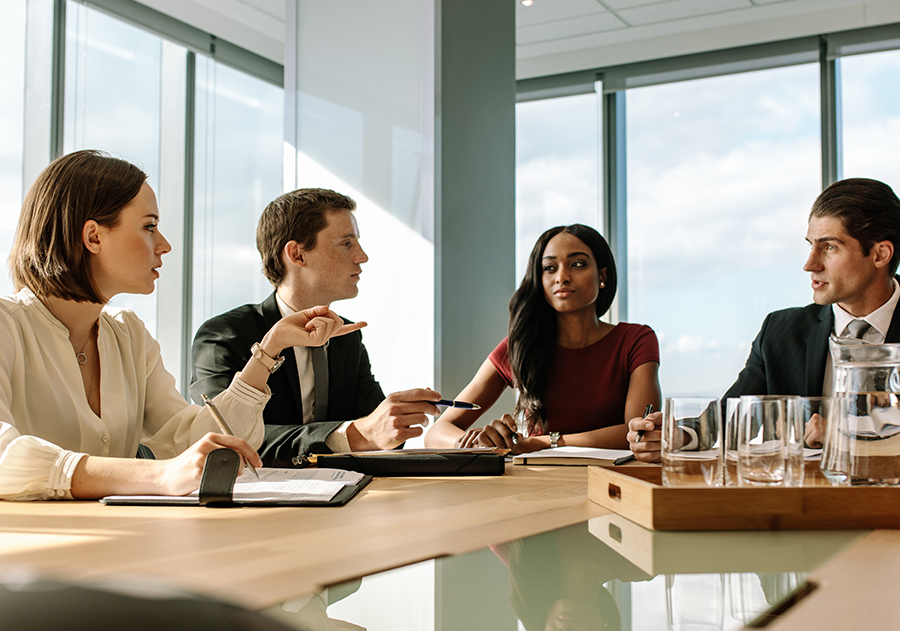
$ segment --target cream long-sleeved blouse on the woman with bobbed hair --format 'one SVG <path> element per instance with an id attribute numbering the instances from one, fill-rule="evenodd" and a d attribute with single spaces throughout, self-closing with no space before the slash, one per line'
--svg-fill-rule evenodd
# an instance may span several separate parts
<path id="1" fill-rule="evenodd" d="M 29 289 L 0 298 L 0 499 L 71 499 L 85 455 L 133 458 L 144 443 L 172 458 L 219 429 L 175 389 L 159 344 L 127 309 L 105 307 L 97 333 L 100 416 L 84 393 L 69 331 Z M 215 399 L 258 448 L 265 393 L 235 377 Z"/>

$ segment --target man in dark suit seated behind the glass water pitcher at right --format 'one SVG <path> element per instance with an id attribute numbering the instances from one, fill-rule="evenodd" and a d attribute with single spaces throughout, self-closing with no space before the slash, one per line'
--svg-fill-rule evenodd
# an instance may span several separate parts
<path id="1" fill-rule="evenodd" d="M 766 316 L 737 381 L 723 398 L 831 392 L 831 335 L 900 342 L 900 200 L 890 186 L 854 178 L 826 188 L 809 213 L 813 303 Z M 659 460 L 661 415 L 629 421 L 635 457 Z M 637 432 L 645 433 L 640 442 Z M 810 432 L 807 432 L 809 437 Z"/>

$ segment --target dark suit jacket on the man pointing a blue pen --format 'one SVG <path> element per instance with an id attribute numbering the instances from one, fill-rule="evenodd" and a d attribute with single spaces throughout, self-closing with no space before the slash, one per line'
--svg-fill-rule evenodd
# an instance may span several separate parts
<path id="1" fill-rule="evenodd" d="M 227 388 L 250 360 L 250 347 L 280 319 L 273 292 L 261 304 L 244 305 L 207 320 L 191 348 L 194 401 L 200 403 L 202 394 L 212 397 Z M 366 416 L 384 400 L 372 376 L 362 333 L 354 331 L 328 344 L 328 420 L 302 425 L 297 360 L 289 348 L 283 355 L 284 364 L 269 377 L 272 398 L 263 412 L 266 437 L 259 453 L 270 467 L 291 467 L 291 458 L 297 455 L 330 453 L 325 439 L 331 432 L 344 421 Z"/>

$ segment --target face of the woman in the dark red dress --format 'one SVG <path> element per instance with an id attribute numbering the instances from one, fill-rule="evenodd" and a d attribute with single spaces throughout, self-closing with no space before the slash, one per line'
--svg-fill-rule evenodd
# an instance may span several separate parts
<path id="1" fill-rule="evenodd" d="M 594 309 L 606 268 L 597 269 L 591 249 L 578 237 L 561 232 L 547 243 L 541 259 L 544 298 L 559 313 Z"/>

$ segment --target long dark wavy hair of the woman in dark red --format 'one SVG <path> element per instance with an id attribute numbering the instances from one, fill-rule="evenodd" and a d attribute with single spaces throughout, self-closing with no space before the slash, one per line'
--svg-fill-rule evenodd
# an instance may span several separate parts
<path id="1" fill-rule="evenodd" d="M 606 268 L 606 285 L 600 289 L 595 303 L 598 318 L 609 310 L 616 295 L 616 262 L 612 250 L 606 239 L 590 226 L 576 223 L 550 228 L 534 244 L 525 278 L 509 301 L 509 364 L 519 390 L 515 414 L 528 415 L 529 435 L 535 427 L 547 430 L 543 398 L 558 331 L 556 311 L 544 298 L 543 258 L 550 239 L 563 232 L 591 249 L 598 272 Z"/>

